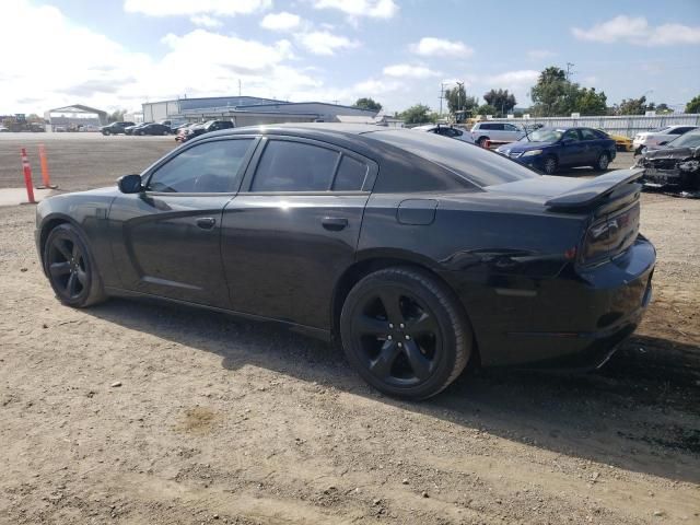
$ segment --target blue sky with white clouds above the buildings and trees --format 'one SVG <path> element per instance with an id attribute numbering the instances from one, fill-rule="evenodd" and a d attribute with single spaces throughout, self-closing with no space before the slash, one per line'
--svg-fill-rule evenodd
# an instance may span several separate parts
<path id="1" fill-rule="evenodd" d="M 700 94 L 700 0 L 1 0 L 0 114 L 236 95 L 440 107 L 548 66 L 682 108 Z"/>

